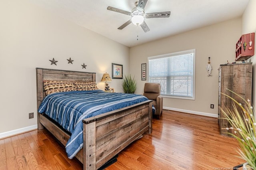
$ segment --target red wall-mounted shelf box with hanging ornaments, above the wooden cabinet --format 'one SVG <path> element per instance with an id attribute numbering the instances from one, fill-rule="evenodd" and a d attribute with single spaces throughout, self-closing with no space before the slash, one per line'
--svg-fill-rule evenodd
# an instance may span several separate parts
<path id="1" fill-rule="evenodd" d="M 255 33 L 242 35 L 236 43 L 236 61 L 246 60 L 254 55 Z"/>

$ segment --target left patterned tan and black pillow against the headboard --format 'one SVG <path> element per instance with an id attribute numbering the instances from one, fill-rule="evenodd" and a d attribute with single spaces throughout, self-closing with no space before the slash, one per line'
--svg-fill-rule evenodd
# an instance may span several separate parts
<path id="1" fill-rule="evenodd" d="M 44 80 L 44 90 L 46 95 L 64 92 L 64 91 L 76 91 L 76 85 L 70 81 L 51 81 Z"/>

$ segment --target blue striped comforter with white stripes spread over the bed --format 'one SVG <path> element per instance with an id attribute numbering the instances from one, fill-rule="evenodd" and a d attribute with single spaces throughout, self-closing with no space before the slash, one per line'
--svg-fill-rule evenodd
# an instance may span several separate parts
<path id="1" fill-rule="evenodd" d="M 66 144 L 68 158 L 72 159 L 83 147 L 83 119 L 146 100 L 142 95 L 102 90 L 69 91 L 47 95 L 38 112 L 48 115 L 72 134 Z"/>

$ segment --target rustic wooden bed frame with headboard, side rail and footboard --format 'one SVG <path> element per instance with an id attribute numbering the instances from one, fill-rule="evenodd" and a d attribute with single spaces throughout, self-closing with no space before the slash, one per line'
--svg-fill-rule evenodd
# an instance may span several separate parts
<path id="1" fill-rule="evenodd" d="M 38 108 L 46 97 L 44 80 L 95 82 L 96 73 L 36 68 Z M 84 169 L 98 169 L 145 132 L 152 132 L 152 101 L 109 111 L 82 120 L 83 149 L 75 157 Z M 38 113 L 38 130 L 48 129 L 66 146 L 70 134 Z"/>

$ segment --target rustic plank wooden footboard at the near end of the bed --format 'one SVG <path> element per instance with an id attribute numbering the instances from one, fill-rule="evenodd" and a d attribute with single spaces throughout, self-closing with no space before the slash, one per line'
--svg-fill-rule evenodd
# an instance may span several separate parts
<path id="1" fill-rule="evenodd" d="M 151 101 L 83 120 L 84 169 L 98 169 L 144 132 L 152 132 Z"/>

